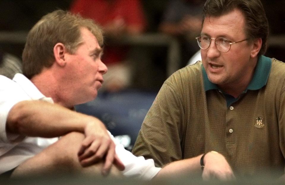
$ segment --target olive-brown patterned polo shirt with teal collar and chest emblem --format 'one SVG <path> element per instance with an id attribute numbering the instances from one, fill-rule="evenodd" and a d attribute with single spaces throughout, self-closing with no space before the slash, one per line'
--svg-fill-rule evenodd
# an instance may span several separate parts
<path id="1" fill-rule="evenodd" d="M 247 90 L 234 101 L 207 82 L 202 68 L 201 62 L 186 66 L 164 82 L 132 152 L 161 167 L 214 150 L 237 177 L 283 174 L 285 63 L 259 58 Z"/>

